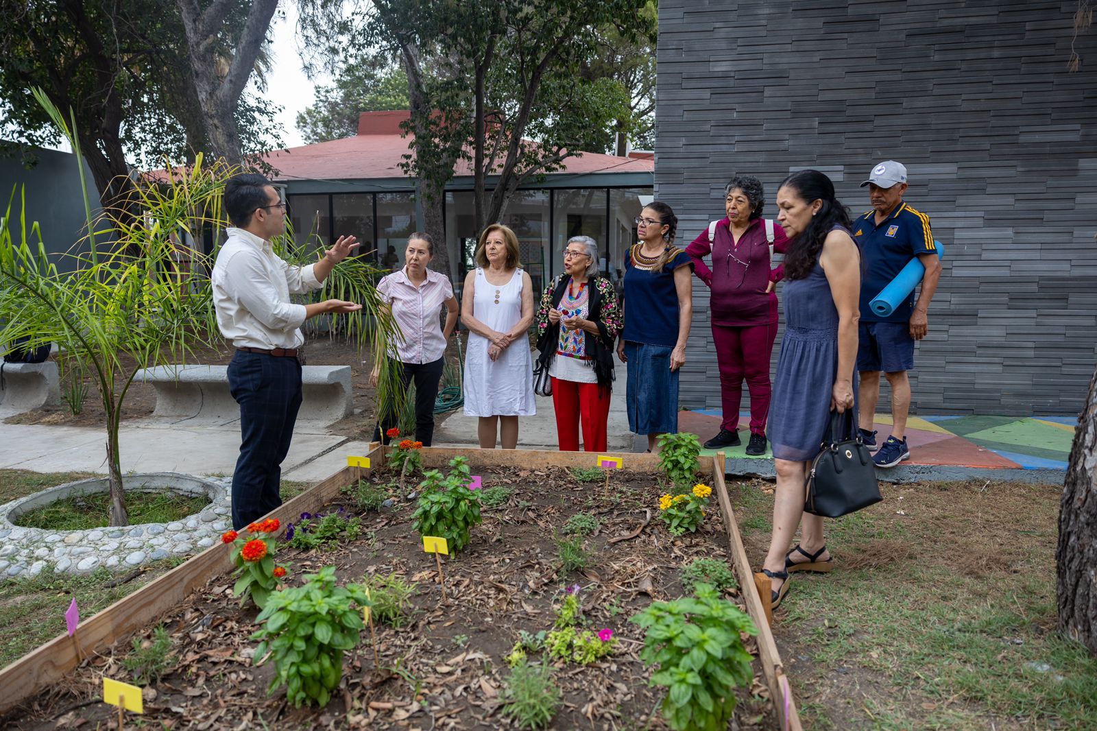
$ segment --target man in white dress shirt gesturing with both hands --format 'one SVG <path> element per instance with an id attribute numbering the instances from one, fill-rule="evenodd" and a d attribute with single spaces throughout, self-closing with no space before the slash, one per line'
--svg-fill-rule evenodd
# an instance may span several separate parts
<path id="1" fill-rule="evenodd" d="M 236 228 L 228 229 L 211 278 L 217 325 L 236 348 L 228 387 L 240 405 L 240 457 L 233 472 L 233 528 L 240 530 L 282 504 L 281 464 L 301 407 L 301 325 L 362 305 L 290 302 L 290 294 L 321 286 L 358 246 L 353 236 L 340 236 L 314 265 L 291 267 L 271 248 L 270 239 L 285 230 L 285 203 L 269 180 L 253 173 L 229 179 L 225 210 Z"/>

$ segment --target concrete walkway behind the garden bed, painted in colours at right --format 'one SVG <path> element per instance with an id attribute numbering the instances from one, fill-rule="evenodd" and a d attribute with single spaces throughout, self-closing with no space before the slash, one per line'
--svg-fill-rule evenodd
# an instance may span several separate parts
<path id="1" fill-rule="evenodd" d="M 623 387 L 620 389 L 623 392 Z M 681 412 L 679 428 L 705 440 L 720 429 L 719 411 Z M 740 418 L 745 428 L 748 416 Z M 886 439 L 889 418 L 877 428 Z M 887 481 L 1019 480 L 1062 484 L 1076 419 L 1005 416 L 921 416 L 907 428 L 912 459 L 891 470 L 879 470 Z M 638 452 L 643 437 L 629 431 L 623 393 L 614 393 L 610 408 L 609 450 Z M 34 472 L 105 473 L 105 432 L 65 426 L 0 424 L 0 469 Z M 124 472 L 231 474 L 239 450 L 236 421 L 197 425 L 186 420 L 128 421 L 120 435 Z M 743 438 L 746 443 L 746 435 Z M 476 418 L 460 411 L 436 429 L 434 446 L 475 447 Z M 536 416 L 522 417 L 520 449 L 556 448 L 555 413 L 551 398 L 538 398 Z M 731 447 L 728 474 L 773 475 L 771 456 L 747 457 L 745 447 Z M 317 482 L 347 464 L 347 456 L 363 454 L 367 440 L 353 440 L 324 429 L 298 425 L 283 463 L 284 480 Z M 706 450 L 705 453 L 712 453 Z"/>

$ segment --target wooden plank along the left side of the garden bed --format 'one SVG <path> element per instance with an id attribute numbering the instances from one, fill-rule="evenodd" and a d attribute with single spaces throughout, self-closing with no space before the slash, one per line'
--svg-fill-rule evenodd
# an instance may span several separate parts
<path id="1" fill-rule="evenodd" d="M 377 452 L 377 449 L 370 452 L 371 460 L 384 459 Z M 331 502 L 343 486 L 354 480 L 357 470 L 358 468 L 343 468 L 263 517 L 278 518 L 284 530 L 285 524 L 302 513 L 315 513 Z M 369 471 L 362 469 L 364 474 Z M 81 621 L 75 638 L 67 633 L 59 634 L 4 667 L 0 671 L 0 713 L 8 712 L 71 672 L 80 663 L 78 642 L 79 651 L 91 655 L 125 640 L 137 630 L 149 627 L 191 592 L 204 586 L 211 576 L 230 571 L 231 552 L 231 547 L 224 543 L 207 548 L 90 619 Z"/>

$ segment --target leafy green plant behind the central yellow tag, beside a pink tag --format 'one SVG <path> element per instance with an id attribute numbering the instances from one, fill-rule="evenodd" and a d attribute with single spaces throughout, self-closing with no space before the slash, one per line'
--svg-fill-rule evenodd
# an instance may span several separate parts
<path id="1" fill-rule="evenodd" d="M 472 475 L 468 460 L 454 457 L 445 476 L 428 470 L 419 484 L 422 495 L 412 517 L 412 529 L 420 536 L 444 538 L 450 552 L 456 553 L 472 539 L 472 528 L 480 522 L 479 491 L 468 490 Z"/>

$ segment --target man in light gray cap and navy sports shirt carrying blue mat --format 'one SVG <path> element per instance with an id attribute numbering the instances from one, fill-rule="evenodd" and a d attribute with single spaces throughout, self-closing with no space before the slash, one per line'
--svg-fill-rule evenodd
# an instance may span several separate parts
<path id="1" fill-rule="evenodd" d="M 906 445 L 906 417 L 911 409 L 911 382 L 906 372 L 914 368 L 914 341 L 926 337 L 926 312 L 937 291 L 941 262 L 929 229 L 929 216 L 903 202 L 906 192 L 906 167 L 886 160 L 872 168 L 861 188 L 869 187 L 872 210 L 853 222 L 853 238 L 863 259 L 861 282 L 861 323 L 857 370 L 861 436 L 875 447 L 872 429 L 880 397 L 880 372 L 892 389 L 892 431 L 873 457 L 878 466 L 892 468 L 909 459 Z M 872 312 L 869 302 L 880 294 L 914 257 L 926 268 L 920 293 L 911 296 L 886 317 Z"/>

